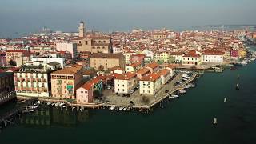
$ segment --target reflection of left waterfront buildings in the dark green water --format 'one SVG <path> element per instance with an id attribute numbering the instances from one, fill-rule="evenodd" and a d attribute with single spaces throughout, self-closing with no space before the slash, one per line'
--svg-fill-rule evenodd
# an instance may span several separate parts
<path id="1" fill-rule="evenodd" d="M 63 126 L 74 127 L 79 122 L 90 118 L 89 111 L 61 109 L 52 106 L 40 106 L 38 110 L 22 115 L 20 123 L 23 126 Z"/>

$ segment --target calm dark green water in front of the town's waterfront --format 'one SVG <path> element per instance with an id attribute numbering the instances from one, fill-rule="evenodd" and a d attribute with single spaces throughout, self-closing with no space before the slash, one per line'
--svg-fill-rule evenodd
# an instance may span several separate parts
<path id="1" fill-rule="evenodd" d="M 0 143 L 256 143 L 255 74 L 256 62 L 205 73 L 196 88 L 151 114 L 42 107 L 2 130 Z"/>

